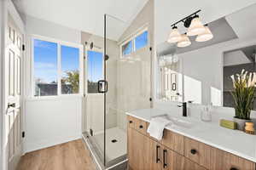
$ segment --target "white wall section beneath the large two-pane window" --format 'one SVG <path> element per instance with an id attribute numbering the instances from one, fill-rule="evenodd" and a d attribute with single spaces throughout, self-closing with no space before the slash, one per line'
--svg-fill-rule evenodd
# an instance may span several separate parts
<path id="1" fill-rule="evenodd" d="M 81 97 L 26 100 L 26 152 L 81 137 Z"/>

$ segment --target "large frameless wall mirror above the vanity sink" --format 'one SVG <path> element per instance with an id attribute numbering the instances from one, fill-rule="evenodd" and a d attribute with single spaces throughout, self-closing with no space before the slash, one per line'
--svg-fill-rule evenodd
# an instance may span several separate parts
<path id="1" fill-rule="evenodd" d="M 179 97 L 178 101 L 233 107 L 230 75 L 240 73 L 242 69 L 255 71 L 255 11 L 254 3 L 207 23 L 213 35 L 213 38 L 207 42 L 196 42 L 194 36 L 189 37 L 191 45 L 185 48 L 178 48 L 176 43 L 158 43 L 156 48 L 159 64 L 156 68 L 159 80 L 156 92 L 158 99 L 166 100 L 167 98 L 172 101 L 166 97 L 169 89 L 169 86 L 166 88 L 166 80 L 170 83 L 172 79 L 160 79 L 163 74 L 161 56 L 165 51 L 169 51 L 169 56 L 179 61 L 176 71 L 181 83 L 177 84 L 177 87 L 181 90 L 179 94 L 182 94 L 182 97 Z M 204 14 L 201 14 L 201 17 L 203 18 Z M 206 23 L 203 22 L 203 24 Z M 166 31 L 166 40 L 170 30 L 171 27 L 169 32 Z M 180 31 L 184 33 L 184 29 Z"/>

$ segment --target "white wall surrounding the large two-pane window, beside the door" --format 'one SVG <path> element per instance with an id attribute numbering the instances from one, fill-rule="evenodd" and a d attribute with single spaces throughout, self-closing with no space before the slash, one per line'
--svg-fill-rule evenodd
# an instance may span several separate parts
<path id="1" fill-rule="evenodd" d="M 50 37 L 65 42 L 81 43 L 81 31 L 26 16 L 28 35 Z M 64 143 L 81 137 L 82 96 L 32 98 L 30 39 L 26 57 L 26 140 L 25 152 Z"/>

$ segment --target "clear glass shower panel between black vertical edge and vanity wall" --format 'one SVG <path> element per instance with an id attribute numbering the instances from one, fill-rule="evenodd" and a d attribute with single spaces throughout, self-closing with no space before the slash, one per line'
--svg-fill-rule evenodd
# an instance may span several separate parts
<path id="1" fill-rule="evenodd" d="M 104 19 L 104 161 L 110 167 L 126 160 L 125 112 L 150 108 L 151 51 L 147 27 L 127 38 L 124 21 Z"/>

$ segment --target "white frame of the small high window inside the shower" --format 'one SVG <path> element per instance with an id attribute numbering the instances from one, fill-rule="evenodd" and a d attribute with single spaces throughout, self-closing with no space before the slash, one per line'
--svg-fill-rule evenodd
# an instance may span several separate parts
<path id="1" fill-rule="evenodd" d="M 130 54 L 126 54 L 126 55 L 123 55 L 123 51 L 122 51 L 122 48 L 123 46 L 127 43 L 127 42 L 130 42 L 131 41 L 131 54 L 134 54 L 136 53 L 137 51 L 143 49 L 143 48 L 139 48 L 139 49 L 136 49 L 135 48 L 135 39 L 136 37 L 140 36 L 141 34 L 143 34 L 143 32 L 145 31 L 148 31 L 148 44 L 146 46 L 144 46 L 143 48 L 147 48 L 150 44 L 150 36 L 149 36 L 149 30 L 148 30 L 148 26 L 143 26 L 142 29 L 139 29 L 138 31 L 136 31 L 134 34 L 131 34 L 130 36 L 128 36 L 127 38 L 125 38 L 124 41 L 120 42 L 119 43 L 119 51 L 120 51 L 120 58 L 121 59 L 125 59 L 125 57 L 129 56 Z"/>

